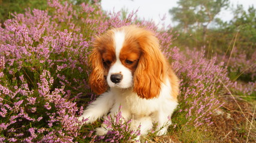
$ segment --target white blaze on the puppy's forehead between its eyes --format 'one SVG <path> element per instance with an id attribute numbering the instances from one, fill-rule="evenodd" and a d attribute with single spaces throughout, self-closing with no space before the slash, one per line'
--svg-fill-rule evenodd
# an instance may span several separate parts
<path id="1" fill-rule="evenodd" d="M 116 49 L 116 60 L 119 60 L 119 54 L 125 41 L 125 32 L 116 31 L 114 35 L 114 41 L 115 41 L 115 49 Z"/>

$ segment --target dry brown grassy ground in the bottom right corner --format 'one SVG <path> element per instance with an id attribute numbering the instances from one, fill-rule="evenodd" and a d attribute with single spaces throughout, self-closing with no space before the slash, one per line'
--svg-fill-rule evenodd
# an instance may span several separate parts
<path id="1" fill-rule="evenodd" d="M 235 98 L 235 101 L 231 96 L 220 100 L 224 105 L 212 115 L 213 124 L 209 126 L 215 138 L 212 142 L 256 142 L 255 105 L 241 98 Z"/>

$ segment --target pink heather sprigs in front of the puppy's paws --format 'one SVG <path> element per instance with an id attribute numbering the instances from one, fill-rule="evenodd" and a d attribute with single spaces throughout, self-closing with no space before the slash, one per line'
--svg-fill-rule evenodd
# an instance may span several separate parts
<path id="1" fill-rule="evenodd" d="M 104 117 L 103 126 L 108 130 L 106 135 L 94 135 L 93 129 L 100 127 L 100 123 L 98 125 L 85 125 L 76 140 L 79 142 L 139 142 L 140 126 L 136 130 L 131 130 L 132 119 L 125 121 L 120 109 L 121 106 L 118 113 Z"/>

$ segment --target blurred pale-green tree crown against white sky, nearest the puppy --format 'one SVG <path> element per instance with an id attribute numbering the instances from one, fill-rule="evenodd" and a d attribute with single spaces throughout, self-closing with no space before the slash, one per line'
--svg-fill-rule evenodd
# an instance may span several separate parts
<path id="1" fill-rule="evenodd" d="M 207 27 L 222 8 L 228 7 L 228 3 L 228 0 L 180 0 L 178 7 L 172 8 L 169 13 L 174 21 L 179 22 L 178 27 L 188 32 Z"/>

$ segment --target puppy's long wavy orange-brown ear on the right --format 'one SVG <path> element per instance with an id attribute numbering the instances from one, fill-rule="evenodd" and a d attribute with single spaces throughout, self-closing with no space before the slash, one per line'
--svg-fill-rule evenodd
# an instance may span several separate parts
<path id="1" fill-rule="evenodd" d="M 134 73 L 134 92 L 141 98 L 154 98 L 161 91 L 165 82 L 167 64 L 159 49 L 158 39 L 151 32 L 144 30 L 138 34 L 141 57 Z"/>

